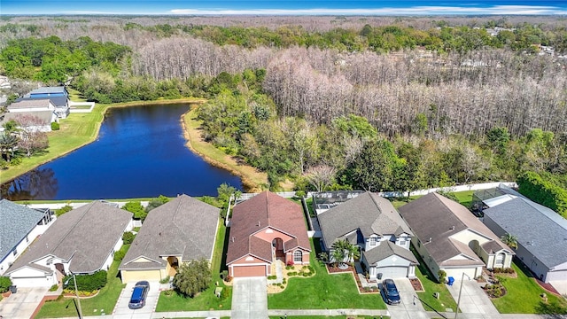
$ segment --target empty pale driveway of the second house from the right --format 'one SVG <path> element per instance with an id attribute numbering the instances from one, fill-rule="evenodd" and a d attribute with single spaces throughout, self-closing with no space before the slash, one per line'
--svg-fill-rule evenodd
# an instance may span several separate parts
<path id="1" fill-rule="evenodd" d="M 461 280 L 455 279 L 453 285 L 447 284 L 447 288 L 454 301 L 459 300 Z M 500 318 L 501 316 L 476 280 L 464 280 L 462 282 L 459 308 L 464 314 L 477 314 L 486 319 Z"/>

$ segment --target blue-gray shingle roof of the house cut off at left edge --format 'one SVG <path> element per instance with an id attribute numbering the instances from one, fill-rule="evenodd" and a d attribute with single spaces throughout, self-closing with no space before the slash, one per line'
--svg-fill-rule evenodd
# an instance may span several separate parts
<path id="1" fill-rule="evenodd" d="M 27 206 L 0 200 L 0 261 L 12 252 L 30 231 L 41 222 L 44 214 Z M 29 238 L 33 241 L 35 238 Z"/>

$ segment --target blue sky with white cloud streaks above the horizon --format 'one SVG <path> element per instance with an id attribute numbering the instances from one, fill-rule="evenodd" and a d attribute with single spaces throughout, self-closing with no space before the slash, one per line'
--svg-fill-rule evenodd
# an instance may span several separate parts
<path id="1" fill-rule="evenodd" d="M 0 0 L 0 15 L 567 15 L 567 0 Z"/>

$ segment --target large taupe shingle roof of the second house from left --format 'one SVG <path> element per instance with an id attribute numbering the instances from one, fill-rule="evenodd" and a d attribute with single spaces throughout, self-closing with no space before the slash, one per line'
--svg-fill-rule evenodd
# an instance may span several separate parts
<path id="1" fill-rule="evenodd" d="M 33 261 L 48 255 L 73 259 L 69 266 L 73 273 L 93 273 L 103 266 L 131 220 L 132 213 L 100 201 L 75 208 L 59 216 L 8 273 L 26 266 L 43 270 Z"/>

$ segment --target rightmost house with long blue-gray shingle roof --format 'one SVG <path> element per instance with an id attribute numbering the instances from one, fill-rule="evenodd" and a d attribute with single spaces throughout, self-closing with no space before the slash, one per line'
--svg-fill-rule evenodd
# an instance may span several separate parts
<path id="1" fill-rule="evenodd" d="M 543 282 L 567 280 L 567 220 L 546 206 L 517 197 L 484 210 L 496 235 L 517 237 L 517 257 Z"/>

